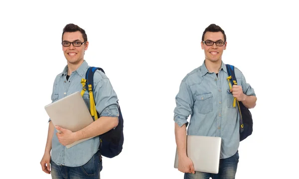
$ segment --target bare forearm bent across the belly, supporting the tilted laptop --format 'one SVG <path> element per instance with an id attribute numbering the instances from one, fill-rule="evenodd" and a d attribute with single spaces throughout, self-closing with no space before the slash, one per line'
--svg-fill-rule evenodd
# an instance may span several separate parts
<path id="1" fill-rule="evenodd" d="M 118 117 L 102 116 L 90 125 L 76 132 L 76 140 L 81 140 L 89 137 L 95 137 L 118 125 Z"/>

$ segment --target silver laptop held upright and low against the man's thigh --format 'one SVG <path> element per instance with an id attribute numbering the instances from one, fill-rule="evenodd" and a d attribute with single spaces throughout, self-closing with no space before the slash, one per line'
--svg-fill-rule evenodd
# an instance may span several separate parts
<path id="1" fill-rule="evenodd" d="M 220 148 L 220 137 L 187 135 L 187 156 L 193 162 L 193 167 L 196 172 L 218 174 Z M 177 150 L 174 168 L 178 168 Z"/>

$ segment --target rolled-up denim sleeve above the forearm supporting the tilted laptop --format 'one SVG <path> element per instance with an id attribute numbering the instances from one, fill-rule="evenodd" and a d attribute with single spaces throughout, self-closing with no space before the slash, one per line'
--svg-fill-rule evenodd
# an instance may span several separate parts
<path id="1" fill-rule="evenodd" d="M 96 109 L 101 116 L 118 117 L 119 104 L 116 92 L 112 88 L 109 79 L 105 78 L 98 82 L 94 89 Z"/>

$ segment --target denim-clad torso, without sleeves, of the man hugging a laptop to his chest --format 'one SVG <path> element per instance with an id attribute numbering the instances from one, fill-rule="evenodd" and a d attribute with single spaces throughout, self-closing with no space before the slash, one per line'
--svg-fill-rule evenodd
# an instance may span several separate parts
<path id="1" fill-rule="evenodd" d="M 88 69 L 88 65 L 83 63 L 80 67 L 82 73 L 79 74 L 74 71 L 68 80 L 66 79 L 66 74 L 60 74 L 56 77 L 53 87 L 53 100 L 56 101 L 74 92 L 81 91 L 83 86 L 81 84 L 81 79 L 85 79 L 85 74 Z M 85 91 L 83 99 L 90 109 L 90 99 L 88 91 Z M 54 102 L 53 101 L 53 102 Z M 79 143 L 69 149 L 61 145 L 56 136 L 57 130 L 55 129 L 52 138 L 52 151 L 51 159 L 57 165 L 65 165 L 69 167 L 78 167 L 84 165 L 88 162 L 91 157 L 98 151 L 100 140 L 99 137 L 94 137 L 82 143 Z"/>

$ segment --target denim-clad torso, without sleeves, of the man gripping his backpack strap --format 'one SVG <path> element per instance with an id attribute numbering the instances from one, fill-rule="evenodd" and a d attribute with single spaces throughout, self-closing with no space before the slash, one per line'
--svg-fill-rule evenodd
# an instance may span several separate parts
<path id="1" fill-rule="evenodd" d="M 221 137 L 220 157 L 228 158 L 236 153 L 240 142 L 239 115 L 237 107 L 233 107 L 228 74 L 221 69 L 218 77 L 209 72 L 203 75 L 202 69 L 203 66 L 195 69 L 185 78 L 194 99 L 187 133 Z"/>

